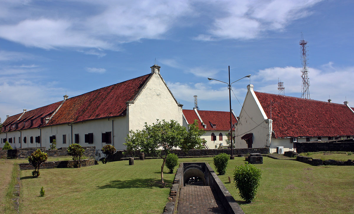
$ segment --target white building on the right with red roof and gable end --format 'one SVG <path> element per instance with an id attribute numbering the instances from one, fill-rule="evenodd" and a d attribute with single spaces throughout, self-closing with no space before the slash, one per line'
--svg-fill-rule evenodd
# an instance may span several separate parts
<path id="1" fill-rule="evenodd" d="M 277 146 L 296 150 L 295 142 L 351 139 L 354 111 L 343 104 L 268 94 L 247 94 L 236 124 L 236 148 Z"/>

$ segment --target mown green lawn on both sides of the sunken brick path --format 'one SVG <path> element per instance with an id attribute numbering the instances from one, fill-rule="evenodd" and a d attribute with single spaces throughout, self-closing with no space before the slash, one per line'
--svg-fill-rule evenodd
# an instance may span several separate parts
<path id="1" fill-rule="evenodd" d="M 212 158 L 180 158 L 181 162 L 209 162 Z M 161 159 L 100 163 L 80 169 L 43 169 L 39 178 L 21 171 L 20 213 L 162 213 L 170 188 L 160 188 Z M 255 201 L 245 204 L 232 179 L 236 165 L 219 176 L 245 213 L 353 213 L 354 167 L 314 167 L 294 160 L 263 158 Z M 174 174 L 165 181 L 171 187 Z M 176 169 L 175 169 L 176 171 Z M 233 179 L 232 179 L 233 180 Z M 45 196 L 39 197 L 44 186 Z"/>

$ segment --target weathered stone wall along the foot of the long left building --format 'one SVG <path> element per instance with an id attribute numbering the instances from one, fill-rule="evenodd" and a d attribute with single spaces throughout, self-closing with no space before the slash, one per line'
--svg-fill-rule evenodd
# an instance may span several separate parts
<path id="1" fill-rule="evenodd" d="M 58 157 L 58 156 L 68 156 L 67 147 L 59 148 L 58 150 L 46 150 L 46 147 L 33 147 L 33 148 L 16 148 L 12 150 L 0 150 L 1 158 L 21 158 L 26 159 L 34 151 L 40 149 L 43 152 L 48 153 L 48 157 Z M 85 152 L 84 156 L 86 157 L 95 157 L 96 146 L 83 146 Z M 5 151 L 5 152 L 4 152 Z M 5 154 L 3 154 L 6 153 Z"/>

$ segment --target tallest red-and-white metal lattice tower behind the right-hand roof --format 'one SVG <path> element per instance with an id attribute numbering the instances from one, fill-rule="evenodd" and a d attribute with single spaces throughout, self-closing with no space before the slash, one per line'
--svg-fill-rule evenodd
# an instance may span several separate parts
<path id="1" fill-rule="evenodd" d="M 301 64 L 302 64 L 301 98 L 310 99 L 310 91 L 309 91 L 310 81 L 308 77 L 307 55 L 306 55 L 307 41 L 304 40 L 302 33 L 301 33 L 301 40 L 299 44 L 301 45 Z"/>

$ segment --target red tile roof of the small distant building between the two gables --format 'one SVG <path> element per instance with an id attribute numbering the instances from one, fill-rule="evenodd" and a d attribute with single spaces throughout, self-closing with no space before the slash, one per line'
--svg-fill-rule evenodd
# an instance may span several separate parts
<path id="1" fill-rule="evenodd" d="M 198 110 L 198 113 L 201 119 L 203 120 L 204 124 L 206 125 L 206 128 L 202 126 L 194 110 L 183 109 L 183 114 L 184 117 L 187 119 L 188 124 L 192 124 L 194 120 L 198 120 L 198 127 L 206 131 L 230 130 L 230 112 Z M 236 118 L 232 116 L 232 123 L 235 124 L 236 122 Z M 213 128 L 212 124 L 215 124 L 216 128 Z"/>

